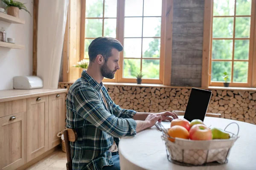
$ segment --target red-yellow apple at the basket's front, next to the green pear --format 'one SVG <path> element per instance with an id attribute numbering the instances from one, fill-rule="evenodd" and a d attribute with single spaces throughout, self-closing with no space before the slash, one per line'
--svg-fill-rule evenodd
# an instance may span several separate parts
<path id="1" fill-rule="evenodd" d="M 192 140 L 212 140 L 212 131 L 203 124 L 197 124 L 190 128 L 189 139 Z"/>

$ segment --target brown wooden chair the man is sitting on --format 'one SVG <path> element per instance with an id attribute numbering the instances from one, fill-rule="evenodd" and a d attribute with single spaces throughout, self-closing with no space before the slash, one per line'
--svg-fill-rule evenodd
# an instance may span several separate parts
<path id="1" fill-rule="evenodd" d="M 65 141 L 65 147 L 66 147 L 66 153 L 67 153 L 67 170 L 72 170 L 72 159 L 70 154 L 70 142 L 76 142 L 77 141 L 77 134 L 76 130 L 66 128 L 63 131 L 64 135 L 64 141 Z"/>

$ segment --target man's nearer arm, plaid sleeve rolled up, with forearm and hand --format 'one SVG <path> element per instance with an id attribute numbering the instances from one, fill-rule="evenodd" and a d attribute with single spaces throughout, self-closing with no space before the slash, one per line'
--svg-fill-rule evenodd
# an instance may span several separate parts
<path id="1" fill-rule="evenodd" d="M 74 106 L 81 117 L 113 137 L 134 136 L 161 119 L 157 115 L 148 116 L 145 121 L 117 118 L 106 111 L 93 90 L 84 88 L 76 92 Z"/>

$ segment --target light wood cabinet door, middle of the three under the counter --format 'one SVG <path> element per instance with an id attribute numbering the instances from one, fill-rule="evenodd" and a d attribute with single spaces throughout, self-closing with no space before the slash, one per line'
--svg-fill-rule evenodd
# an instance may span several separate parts
<path id="1" fill-rule="evenodd" d="M 48 150 L 48 97 L 49 96 L 40 96 L 27 99 L 27 162 Z"/>

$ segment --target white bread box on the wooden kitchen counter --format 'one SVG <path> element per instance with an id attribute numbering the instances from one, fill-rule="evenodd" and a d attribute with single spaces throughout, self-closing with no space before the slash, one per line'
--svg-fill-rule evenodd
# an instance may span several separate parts
<path id="1" fill-rule="evenodd" d="M 14 89 L 34 89 L 43 88 L 43 80 L 36 76 L 16 76 L 13 77 Z"/>

